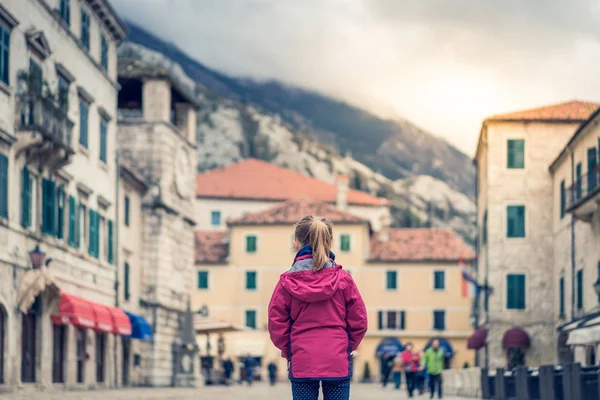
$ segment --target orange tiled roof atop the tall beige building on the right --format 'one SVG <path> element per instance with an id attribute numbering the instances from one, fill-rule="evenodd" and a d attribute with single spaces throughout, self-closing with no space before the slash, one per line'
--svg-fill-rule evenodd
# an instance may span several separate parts
<path id="1" fill-rule="evenodd" d="M 529 110 L 494 115 L 487 121 L 557 121 L 583 122 L 600 107 L 600 104 L 586 101 L 568 101 Z"/>

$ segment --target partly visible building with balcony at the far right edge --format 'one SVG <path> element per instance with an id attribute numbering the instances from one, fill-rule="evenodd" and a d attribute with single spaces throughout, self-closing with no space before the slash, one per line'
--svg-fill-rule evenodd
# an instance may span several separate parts
<path id="1" fill-rule="evenodd" d="M 572 135 L 553 177 L 554 316 L 561 363 L 600 363 L 600 111 Z"/>

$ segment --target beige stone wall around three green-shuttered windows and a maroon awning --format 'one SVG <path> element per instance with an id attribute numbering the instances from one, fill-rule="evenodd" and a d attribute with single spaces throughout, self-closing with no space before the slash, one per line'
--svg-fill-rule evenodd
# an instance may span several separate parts
<path id="1" fill-rule="evenodd" d="M 487 244 L 480 248 L 479 271 L 487 273 L 494 294 L 489 299 L 490 368 L 506 365 L 501 341 L 513 325 L 532 338 L 528 365 L 552 363 L 554 348 L 554 217 L 549 166 L 577 129 L 577 124 L 494 123 L 484 125 L 479 166 L 480 222 L 487 211 Z M 507 141 L 525 140 L 525 168 L 507 168 Z M 509 205 L 525 205 L 525 238 L 507 237 Z M 482 214 L 483 213 L 483 214 Z M 483 227 L 483 224 L 480 225 Z M 480 231 L 480 237 L 482 232 Z M 483 256 L 483 257 L 482 257 Z M 526 276 L 526 309 L 506 309 L 506 275 Z"/>

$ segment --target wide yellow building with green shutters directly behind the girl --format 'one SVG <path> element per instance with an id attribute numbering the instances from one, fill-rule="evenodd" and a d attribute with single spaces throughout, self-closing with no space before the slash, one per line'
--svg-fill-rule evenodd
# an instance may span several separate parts
<path id="1" fill-rule="evenodd" d="M 269 184 L 265 181 L 263 186 Z M 193 309 L 206 306 L 210 317 L 247 328 L 224 336 L 226 357 L 256 357 L 262 367 L 256 372 L 263 379 L 266 366 L 275 361 L 279 377 L 286 376 L 285 360 L 269 339 L 267 305 L 279 276 L 293 261 L 293 225 L 311 214 L 334 223 L 336 262 L 352 274 L 367 305 L 369 331 L 354 360 L 357 379 L 366 363 L 372 376 L 380 375 L 382 349 L 387 346 L 392 349 L 386 351 L 395 352 L 410 341 L 421 350 L 432 338 L 443 340 L 448 366 L 473 365 L 474 353 L 466 345 L 471 299 L 461 291 L 459 265 L 461 258 L 470 262 L 473 251 L 447 230 L 373 233 L 367 218 L 311 200 L 279 202 L 229 219 L 226 231 L 196 232 L 196 271 L 190 279 L 195 284 Z M 206 340 L 198 337 L 200 348 Z M 210 340 L 213 353 L 202 356 L 217 356 L 219 339 L 213 335 Z"/>

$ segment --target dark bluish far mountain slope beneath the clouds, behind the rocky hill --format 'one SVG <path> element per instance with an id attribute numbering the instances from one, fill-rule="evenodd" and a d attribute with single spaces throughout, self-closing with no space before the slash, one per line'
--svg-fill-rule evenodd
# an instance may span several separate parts
<path id="1" fill-rule="evenodd" d="M 220 97 L 275 113 L 292 129 L 337 148 L 341 154 L 351 153 L 357 161 L 392 180 L 430 175 L 469 197 L 474 195 L 474 169 L 469 158 L 407 120 L 385 120 L 342 101 L 276 81 L 229 77 L 139 26 L 129 23 L 128 27 L 130 41 L 164 54 Z"/>

